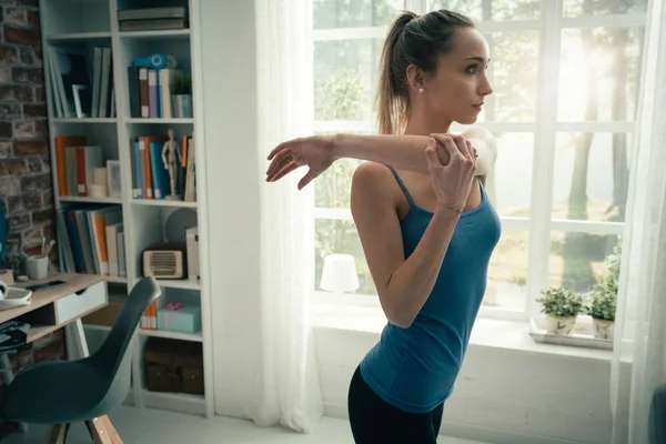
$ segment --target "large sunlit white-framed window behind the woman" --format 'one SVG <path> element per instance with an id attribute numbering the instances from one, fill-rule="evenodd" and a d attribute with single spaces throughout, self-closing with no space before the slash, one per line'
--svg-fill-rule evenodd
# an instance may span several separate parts
<path id="1" fill-rule="evenodd" d="M 493 58 L 495 92 L 477 124 L 497 139 L 503 224 L 481 315 L 536 317 L 542 290 L 599 282 L 622 235 L 646 3 L 314 0 L 315 132 L 374 132 L 382 43 L 401 9 L 475 19 Z M 349 209 L 359 163 L 337 162 L 315 182 L 315 290 L 324 258 L 349 253 L 360 287 L 345 303 L 366 304 L 376 290 Z"/>

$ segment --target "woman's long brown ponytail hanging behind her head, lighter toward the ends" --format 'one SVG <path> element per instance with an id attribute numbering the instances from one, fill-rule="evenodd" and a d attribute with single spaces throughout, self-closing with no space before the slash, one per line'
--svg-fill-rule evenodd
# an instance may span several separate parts
<path id="1" fill-rule="evenodd" d="M 402 12 L 391 26 L 380 61 L 380 79 L 375 103 L 381 134 L 397 134 L 406 122 L 407 94 L 405 89 L 406 65 L 400 63 L 401 47 L 404 43 L 404 30 L 408 22 L 418 16 Z M 402 72 L 398 70 L 402 69 Z"/>

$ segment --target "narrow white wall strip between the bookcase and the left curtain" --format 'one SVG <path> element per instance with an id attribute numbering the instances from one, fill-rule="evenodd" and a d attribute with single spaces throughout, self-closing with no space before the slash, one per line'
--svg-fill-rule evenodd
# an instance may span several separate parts
<path id="1" fill-rule="evenodd" d="M 254 2 L 201 11 L 215 411 L 243 416 L 260 339 Z"/>

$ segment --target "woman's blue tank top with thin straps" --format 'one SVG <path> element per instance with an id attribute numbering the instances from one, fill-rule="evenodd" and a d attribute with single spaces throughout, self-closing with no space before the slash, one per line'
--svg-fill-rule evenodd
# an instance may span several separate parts
<path id="1" fill-rule="evenodd" d="M 433 214 L 410 202 L 401 221 L 405 259 L 416 249 Z M 408 329 L 387 323 L 361 362 L 366 384 L 389 404 L 430 412 L 448 398 L 486 289 L 491 254 L 500 240 L 497 213 L 481 185 L 482 202 L 455 226 L 432 293 Z"/>

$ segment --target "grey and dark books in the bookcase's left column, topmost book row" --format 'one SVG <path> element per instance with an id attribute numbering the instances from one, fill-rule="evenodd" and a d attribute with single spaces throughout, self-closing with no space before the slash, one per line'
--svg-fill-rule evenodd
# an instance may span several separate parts
<path id="1" fill-rule="evenodd" d="M 111 48 L 50 47 L 47 72 L 57 118 L 114 118 L 113 59 Z"/>

